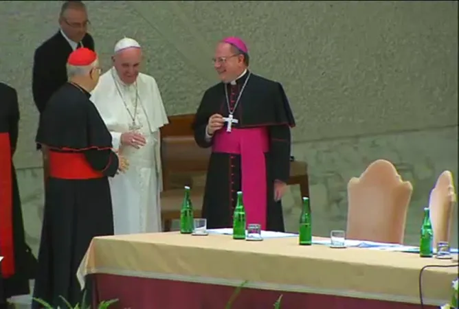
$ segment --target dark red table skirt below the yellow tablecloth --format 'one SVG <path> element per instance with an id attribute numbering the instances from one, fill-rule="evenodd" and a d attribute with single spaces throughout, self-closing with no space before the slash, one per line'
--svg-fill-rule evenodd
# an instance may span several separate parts
<path id="1" fill-rule="evenodd" d="M 231 286 L 146 279 L 119 275 L 91 275 L 94 301 L 118 299 L 110 309 L 225 309 Z M 352 297 L 290 293 L 243 288 L 232 309 L 272 309 L 280 295 L 282 309 L 419 309 L 420 305 Z M 97 308 L 97 307 L 96 307 Z M 437 306 L 424 306 L 438 309 Z"/>

